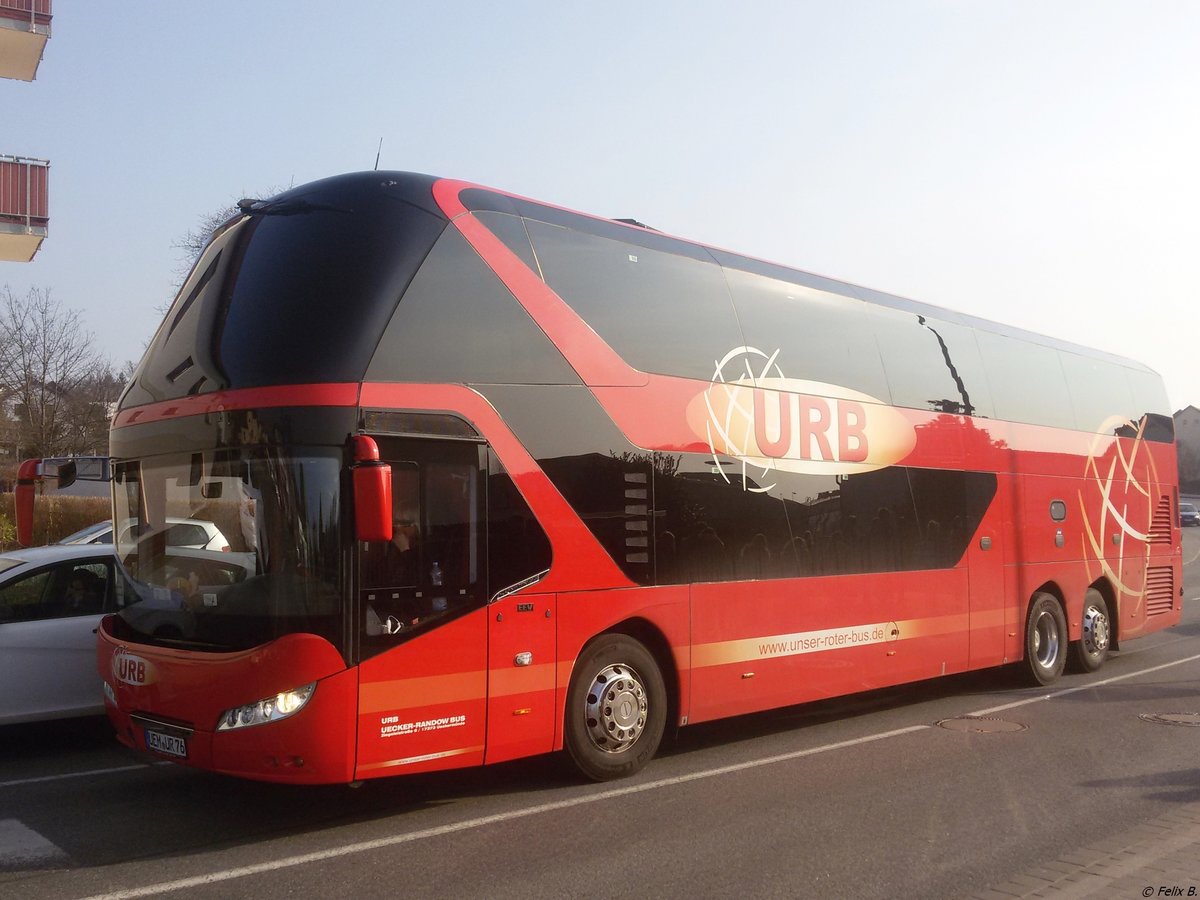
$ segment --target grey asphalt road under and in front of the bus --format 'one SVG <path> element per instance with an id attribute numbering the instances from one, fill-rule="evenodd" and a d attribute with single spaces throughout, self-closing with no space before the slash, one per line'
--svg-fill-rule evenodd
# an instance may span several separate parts
<path id="1" fill-rule="evenodd" d="M 694 726 L 610 785 L 539 758 L 278 787 L 151 764 L 103 721 L 0 728 L 0 896 L 980 893 L 1200 800 L 1200 727 L 1142 718 L 1200 712 L 1200 529 L 1183 539 L 1183 623 L 1096 674 Z M 984 730 L 938 725 L 966 715 Z"/>

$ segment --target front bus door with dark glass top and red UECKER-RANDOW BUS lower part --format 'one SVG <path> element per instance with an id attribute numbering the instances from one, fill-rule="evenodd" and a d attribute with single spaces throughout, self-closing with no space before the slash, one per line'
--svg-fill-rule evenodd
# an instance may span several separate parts
<path id="1" fill-rule="evenodd" d="M 392 538 L 358 546 L 358 778 L 478 766 L 487 719 L 484 449 L 377 438 Z"/>

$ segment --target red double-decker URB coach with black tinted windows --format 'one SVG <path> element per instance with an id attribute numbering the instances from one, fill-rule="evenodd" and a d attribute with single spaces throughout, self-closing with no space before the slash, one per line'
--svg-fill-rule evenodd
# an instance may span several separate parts
<path id="1" fill-rule="evenodd" d="M 245 202 L 110 450 L 109 716 L 252 779 L 610 779 L 683 725 L 1046 684 L 1181 614 L 1145 366 L 422 175 Z"/>

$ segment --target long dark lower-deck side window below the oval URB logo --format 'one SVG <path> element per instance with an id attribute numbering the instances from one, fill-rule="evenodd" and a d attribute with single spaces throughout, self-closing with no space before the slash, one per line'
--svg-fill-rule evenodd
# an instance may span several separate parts
<path id="1" fill-rule="evenodd" d="M 772 473 L 769 493 L 712 460 L 667 457 L 655 479 L 660 583 L 947 569 L 996 492 L 985 473 Z"/>

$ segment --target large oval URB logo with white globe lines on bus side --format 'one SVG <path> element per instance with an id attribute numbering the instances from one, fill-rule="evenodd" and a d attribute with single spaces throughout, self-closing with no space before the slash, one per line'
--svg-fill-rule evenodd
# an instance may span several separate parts
<path id="1" fill-rule="evenodd" d="M 772 472 L 850 475 L 893 466 L 917 443 L 912 424 L 881 400 L 850 388 L 787 378 L 779 350 L 736 347 L 716 364 L 713 384 L 688 404 L 688 424 L 718 456 Z M 726 463 L 727 464 L 727 463 Z"/>

